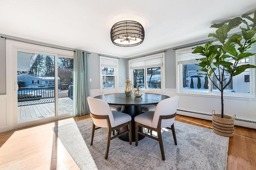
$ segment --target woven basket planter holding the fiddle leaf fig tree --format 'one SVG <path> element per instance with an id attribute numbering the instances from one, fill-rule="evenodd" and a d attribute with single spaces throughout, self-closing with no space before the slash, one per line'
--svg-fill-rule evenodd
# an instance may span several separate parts
<path id="1" fill-rule="evenodd" d="M 221 114 L 215 114 L 215 111 L 212 111 L 212 130 L 214 133 L 219 134 L 221 136 L 233 136 L 234 132 L 234 123 L 235 117 L 223 115 L 221 118 Z"/>

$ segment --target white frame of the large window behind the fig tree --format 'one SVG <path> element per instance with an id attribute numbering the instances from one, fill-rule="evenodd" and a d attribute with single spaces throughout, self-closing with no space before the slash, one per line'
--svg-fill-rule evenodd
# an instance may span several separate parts
<path id="1" fill-rule="evenodd" d="M 215 42 L 215 44 L 217 44 Z M 204 44 L 203 44 L 204 45 Z M 202 45 L 202 46 L 203 46 Z M 196 45 L 194 46 L 196 47 Z M 212 91 L 212 82 L 208 81 L 208 91 L 200 91 L 200 90 L 183 90 L 182 87 L 182 65 L 183 64 L 189 64 L 189 63 L 198 63 L 196 59 L 190 59 L 190 60 L 185 60 L 182 62 L 179 62 L 179 54 L 181 53 L 188 53 L 194 51 L 192 49 L 193 47 L 187 47 L 187 48 L 182 48 L 182 49 L 177 49 L 176 50 L 176 93 L 182 93 L 182 94 L 196 94 L 196 95 L 220 95 L 220 91 Z M 255 54 L 256 55 L 256 54 Z M 252 65 L 256 65 L 256 57 L 255 55 L 250 56 L 250 61 L 249 63 Z M 198 54 L 200 58 L 200 54 Z M 203 56 L 201 56 L 202 58 Z M 249 69 L 249 77 L 250 77 L 250 93 L 233 93 L 233 92 L 227 92 L 224 91 L 224 96 L 225 97 L 256 97 L 256 69 Z"/>

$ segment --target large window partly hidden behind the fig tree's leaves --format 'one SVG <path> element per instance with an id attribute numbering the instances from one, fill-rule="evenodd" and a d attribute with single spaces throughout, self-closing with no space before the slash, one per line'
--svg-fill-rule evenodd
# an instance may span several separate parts
<path id="1" fill-rule="evenodd" d="M 255 53 L 256 47 L 251 47 L 250 52 Z M 217 87 L 208 79 L 207 75 L 198 75 L 197 71 L 201 67 L 198 65 L 196 59 L 202 58 L 203 56 L 196 53 L 192 53 L 192 47 L 187 49 L 176 50 L 177 60 L 177 91 L 179 93 L 216 93 L 219 90 Z M 253 64 L 255 60 L 252 57 L 247 57 L 240 61 L 239 65 Z M 232 62 L 232 58 L 226 58 L 226 61 Z M 214 66 L 213 66 L 214 67 Z M 204 72 L 201 72 L 204 73 Z M 218 75 L 218 69 L 216 69 L 216 75 Z M 229 73 L 224 73 L 226 82 L 230 79 Z M 253 80 L 254 77 L 254 80 Z M 216 77 L 212 76 L 213 81 L 216 81 Z M 224 90 L 226 95 L 229 96 L 248 96 L 253 95 L 252 92 L 255 89 L 255 69 L 246 69 L 243 73 L 232 77 L 232 82 Z M 218 85 L 217 81 L 215 83 Z M 231 93 L 232 92 L 232 93 Z"/>

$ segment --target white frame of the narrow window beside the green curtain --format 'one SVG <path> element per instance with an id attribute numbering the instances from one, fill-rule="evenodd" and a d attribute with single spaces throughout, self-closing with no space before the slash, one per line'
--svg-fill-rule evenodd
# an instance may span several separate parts
<path id="1" fill-rule="evenodd" d="M 114 76 L 114 81 L 115 81 L 115 86 L 113 89 L 118 90 L 119 89 L 119 85 L 118 85 L 118 58 L 112 58 L 112 57 L 104 57 L 102 55 L 100 55 L 100 92 L 104 92 L 107 91 L 109 89 L 103 89 L 103 76 L 108 76 L 108 75 L 102 75 L 102 65 L 103 62 L 105 61 L 110 61 L 110 62 L 116 62 L 116 64 L 113 64 L 110 68 L 114 68 L 114 75 L 111 75 L 111 77 Z M 116 65 L 116 66 L 115 66 Z"/>

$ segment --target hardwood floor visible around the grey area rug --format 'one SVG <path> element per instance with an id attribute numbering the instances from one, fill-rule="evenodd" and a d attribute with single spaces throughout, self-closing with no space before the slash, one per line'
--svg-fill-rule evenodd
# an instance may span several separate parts
<path id="1" fill-rule="evenodd" d="M 52 127 L 89 118 L 74 117 L 0 133 L 0 169 L 79 169 Z M 176 121 L 205 128 L 212 122 L 177 115 Z M 256 130 L 235 127 L 229 138 L 228 170 L 254 170 L 256 167 Z"/>

